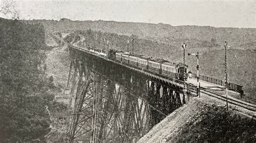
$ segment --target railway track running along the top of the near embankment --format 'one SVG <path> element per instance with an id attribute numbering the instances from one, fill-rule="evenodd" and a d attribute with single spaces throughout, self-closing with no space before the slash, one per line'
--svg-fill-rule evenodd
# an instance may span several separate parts
<path id="1" fill-rule="evenodd" d="M 218 98 L 218 99 L 220 99 L 222 101 L 226 101 L 226 96 L 217 94 L 217 93 L 212 92 L 212 91 L 208 91 L 208 90 L 206 90 L 204 88 L 201 88 L 200 92 L 204 93 L 206 95 Z M 233 105 L 237 105 L 237 106 L 239 106 L 241 108 L 244 108 L 244 109 L 256 112 L 256 106 L 255 105 L 250 104 L 250 103 L 246 103 L 246 102 L 243 102 L 243 101 L 239 101 L 239 99 L 233 99 L 233 98 L 228 97 L 227 98 L 227 102 L 230 103 L 230 104 L 233 104 Z"/>

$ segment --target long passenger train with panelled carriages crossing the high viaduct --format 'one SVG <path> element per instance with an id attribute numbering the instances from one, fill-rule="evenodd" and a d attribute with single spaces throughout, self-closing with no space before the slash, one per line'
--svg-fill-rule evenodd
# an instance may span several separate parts
<path id="1" fill-rule="evenodd" d="M 132 54 L 129 52 L 116 51 L 109 49 L 96 49 L 93 47 L 79 47 L 86 51 L 98 54 L 99 56 L 105 56 L 106 58 L 114 61 L 118 61 L 125 65 L 135 66 L 142 69 L 150 70 L 159 74 L 171 76 L 178 80 L 185 81 L 187 79 L 187 65 L 184 63 L 173 63 L 163 59 L 153 59 L 144 55 Z"/>

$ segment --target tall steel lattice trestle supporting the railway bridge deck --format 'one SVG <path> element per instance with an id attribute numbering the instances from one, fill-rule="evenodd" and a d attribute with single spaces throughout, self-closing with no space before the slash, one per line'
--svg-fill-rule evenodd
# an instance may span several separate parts
<path id="1" fill-rule="evenodd" d="M 182 105 L 179 86 L 70 48 L 69 141 L 136 141 Z"/>

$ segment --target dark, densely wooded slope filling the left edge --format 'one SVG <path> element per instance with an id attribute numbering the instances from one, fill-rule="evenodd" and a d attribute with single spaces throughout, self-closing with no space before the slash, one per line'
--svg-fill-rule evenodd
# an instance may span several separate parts
<path id="1" fill-rule="evenodd" d="M 42 141 L 54 96 L 44 77 L 44 27 L 0 18 L 0 142 Z"/>

